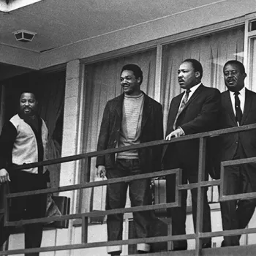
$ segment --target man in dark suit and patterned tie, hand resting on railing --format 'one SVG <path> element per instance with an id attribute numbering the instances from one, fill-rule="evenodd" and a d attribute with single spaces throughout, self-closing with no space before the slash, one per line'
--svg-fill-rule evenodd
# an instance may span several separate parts
<path id="1" fill-rule="evenodd" d="M 220 92 L 203 86 L 203 68 L 199 61 L 186 59 L 178 69 L 178 83 L 182 94 L 170 103 L 166 140 L 216 129 L 219 115 Z M 166 148 L 165 148 L 166 149 Z M 206 152 L 207 153 L 207 152 Z M 207 154 L 208 156 L 208 154 Z M 196 183 L 198 176 L 199 140 L 170 143 L 164 153 L 165 168 L 181 168 L 182 183 Z M 206 166 L 208 166 L 208 160 Z M 208 172 L 206 171 L 206 179 Z M 176 177 L 167 176 L 167 201 L 175 201 Z M 197 189 L 192 189 L 192 214 L 196 224 Z M 204 191 L 203 232 L 211 232 L 211 216 L 206 190 Z M 187 190 L 181 192 L 181 207 L 171 208 L 173 235 L 186 233 Z M 203 239 L 203 248 L 211 247 L 211 238 Z M 187 241 L 174 241 L 174 250 L 187 249 Z"/>

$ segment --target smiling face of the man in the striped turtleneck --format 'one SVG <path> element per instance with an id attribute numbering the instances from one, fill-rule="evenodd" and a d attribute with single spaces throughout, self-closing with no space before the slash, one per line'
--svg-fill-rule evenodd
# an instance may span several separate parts
<path id="1" fill-rule="evenodd" d="M 140 78 L 135 78 L 135 75 L 131 70 L 124 70 L 121 72 L 120 81 L 121 87 L 124 90 L 124 94 L 140 94 Z"/>

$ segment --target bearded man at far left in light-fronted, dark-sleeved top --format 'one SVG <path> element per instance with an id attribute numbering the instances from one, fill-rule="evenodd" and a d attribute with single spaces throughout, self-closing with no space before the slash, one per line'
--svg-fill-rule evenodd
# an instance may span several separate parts
<path id="1" fill-rule="evenodd" d="M 0 136 L 0 184 L 9 183 L 10 192 L 25 192 L 47 187 L 43 167 L 13 170 L 14 165 L 45 159 L 48 129 L 37 115 L 37 99 L 30 91 L 20 95 L 20 111 L 4 124 Z M 12 199 L 10 221 L 45 217 L 46 195 Z M 25 248 L 40 247 L 42 223 L 24 225 Z M 10 236 L 10 229 L 0 219 L 0 246 Z M 39 252 L 25 254 L 38 256 Z"/>

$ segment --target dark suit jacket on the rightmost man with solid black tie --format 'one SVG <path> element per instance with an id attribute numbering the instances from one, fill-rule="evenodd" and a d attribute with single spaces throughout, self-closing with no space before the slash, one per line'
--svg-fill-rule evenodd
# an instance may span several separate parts
<path id="1" fill-rule="evenodd" d="M 222 111 L 220 116 L 221 129 L 237 127 L 235 113 L 233 111 L 230 92 L 222 92 Z M 244 113 L 241 125 L 256 123 L 256 94 L 246 89 Z M 231 160 L 236 154 L 238 140 L 244 148 L 246 157 L 256 157 L 256 130 L 252 129 L 247 132 L 231 133 L 220 137 L 221 161 Z M 255 165 L 255 164 L 252 164 Z M 256 184 L 256 170 L 249 171 L 249 176 Z"/>

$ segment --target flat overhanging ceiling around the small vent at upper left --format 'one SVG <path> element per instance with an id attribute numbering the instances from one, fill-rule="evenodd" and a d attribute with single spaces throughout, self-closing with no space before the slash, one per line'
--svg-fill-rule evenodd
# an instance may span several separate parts
<path id="1" fill-rule="evenodd" d="M 0 45 L 43 52 L 215 2 L 221 1 L 43 0 L 0 12 Z M 12 33 L 20 29 L 37 33 L 33 42 L 17 42 Z"/>

